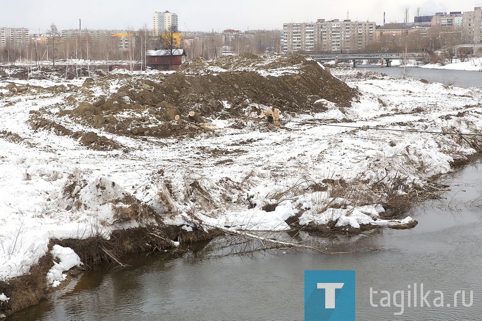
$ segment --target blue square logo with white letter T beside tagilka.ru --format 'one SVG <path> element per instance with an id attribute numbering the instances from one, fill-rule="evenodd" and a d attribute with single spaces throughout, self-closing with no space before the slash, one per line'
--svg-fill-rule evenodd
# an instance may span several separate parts
<path id="1" fill-rule="evenodd" d="M 304 271 L 305 321 L 355 321 L 355 271 Z"/>

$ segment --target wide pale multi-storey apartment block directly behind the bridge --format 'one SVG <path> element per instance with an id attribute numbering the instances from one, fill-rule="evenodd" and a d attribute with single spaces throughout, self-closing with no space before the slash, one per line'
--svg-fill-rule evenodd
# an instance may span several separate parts
<path id="1" fill-rule="evenodd" d="M 375 40 L 375 22 L 338 19 L 283 24 L 283 53 L 363 50 Z"/>

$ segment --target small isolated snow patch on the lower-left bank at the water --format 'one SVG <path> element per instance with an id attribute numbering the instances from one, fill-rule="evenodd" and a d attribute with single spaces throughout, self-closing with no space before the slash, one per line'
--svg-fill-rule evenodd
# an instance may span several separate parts
<path id="1" fill-rule="evenodd" d="M 52 256 L 58 259 L 59 262 L 54 261 L 54 266 L 47 272 L 47 281 L 53 288 L 60 285 L 67 275 L 63 271 L 70 270 L 74 266 L 82 265 L 79 256 L 70 247 L 63 247 L 55 244 L 52 248 Z"/>

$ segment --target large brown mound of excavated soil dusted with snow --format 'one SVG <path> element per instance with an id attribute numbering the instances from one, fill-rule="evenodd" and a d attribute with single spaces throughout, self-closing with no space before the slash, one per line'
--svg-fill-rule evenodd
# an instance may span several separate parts
<path id="1" fill-rule="evenodd" d="M 114 83 L 117 92 L 98 96 L 99 88 Z M 79 92 L 87 96 L 65 99 L 56 116 L 117 135 L 152 137 L 198 135 L 213 128 L 208 118 L 237 117 L 243 126 L 243 118 L 268 108 L 287 117 L 325 112 L 320 99 L 347 108 L 358 96 L 306 56 L 251 54 L 195 58 L 171 74 L 87 78 Z"/>

